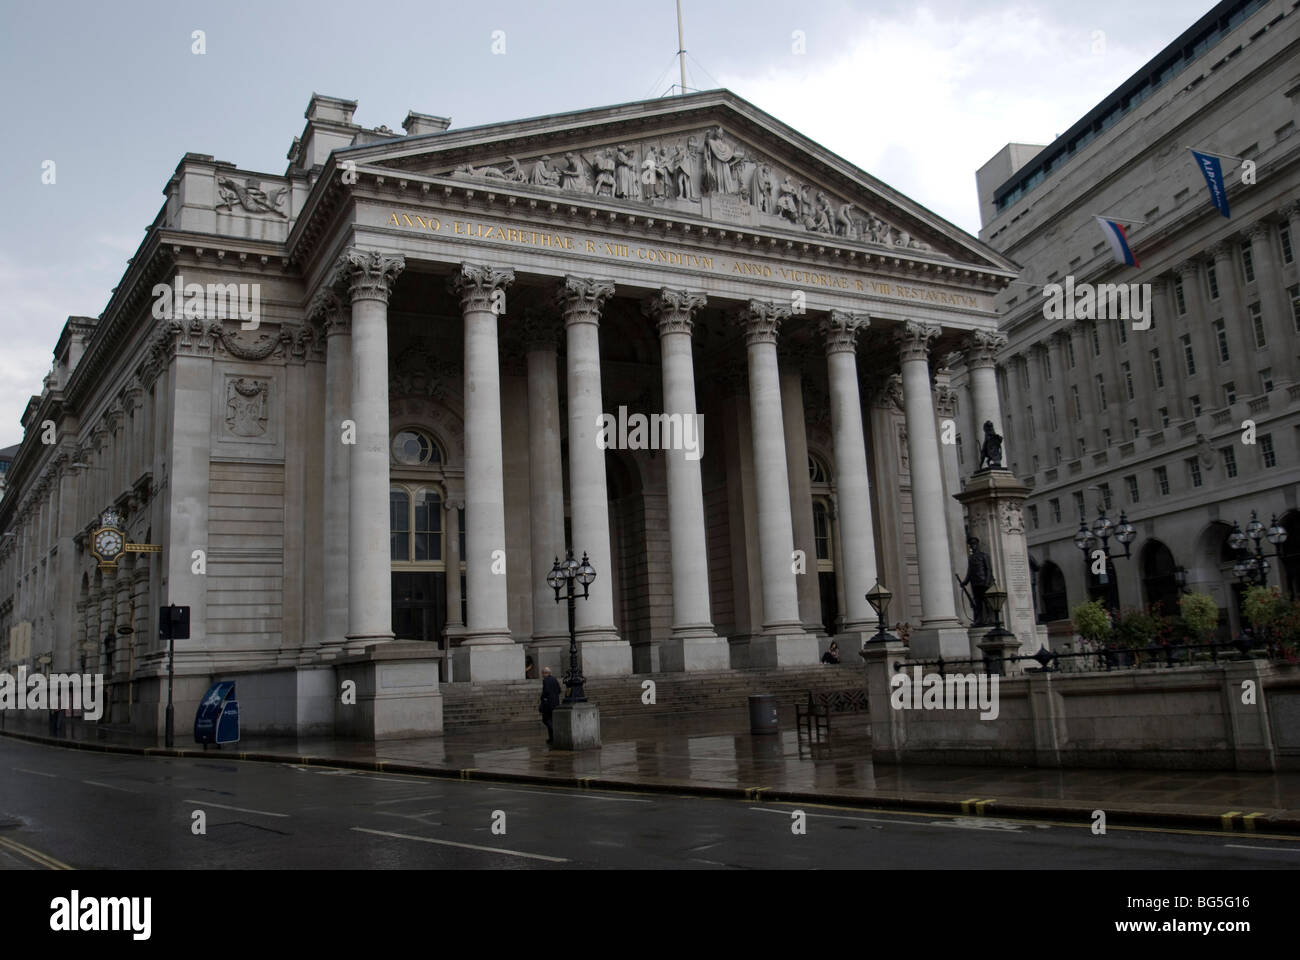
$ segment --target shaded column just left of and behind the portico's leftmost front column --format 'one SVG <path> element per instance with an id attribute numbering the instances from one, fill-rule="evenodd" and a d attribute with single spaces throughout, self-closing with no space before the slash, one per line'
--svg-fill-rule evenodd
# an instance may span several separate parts
<path id="1" fill-rule="evenodd" d="M 351 467 L 343 444 L 343 420 L 350 418 L 352 393 L 352 332 L 343 302 L 329 286 L 312 300 L 308 313 L 325 330 L 325 457 L 321 540 L 324 557 L 325 637 L 320 656 L 332 660 L 343 652 L 348 632 L 348 479 Z M 386 429 L 386 427 L 385 427 Z"/>

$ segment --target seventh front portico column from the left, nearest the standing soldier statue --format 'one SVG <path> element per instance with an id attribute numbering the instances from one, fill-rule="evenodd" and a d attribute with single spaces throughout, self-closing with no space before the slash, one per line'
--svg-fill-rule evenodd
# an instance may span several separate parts
<path id="1" fill-rule="evenodd" d="M 930 341 L 940 333 L 936 324 L 907 320 L 896 332 L 902 366 L 904 416 L 907 423 L 907 459 L 911 466 L 911 515 L 916 528 L 916 561 L 920 571 L 920 626 L 913 631 L 911 650 L 919 658 L 962 657 L 970 652 L 966 631 L 957 620 L 949 584 L 948 523 L 944 477 L 935 431 L 935 406 L 930 393 Z M 885 584 L 889 587 L 889 584 Z M 902 584 L 889 587 L 894 594 Z"/>

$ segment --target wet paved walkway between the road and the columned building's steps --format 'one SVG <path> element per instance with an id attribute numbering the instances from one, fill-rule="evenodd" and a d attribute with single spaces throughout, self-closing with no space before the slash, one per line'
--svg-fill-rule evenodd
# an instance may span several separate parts
<path id="1" fill-rule="evenodd" d="M 796 800 L 864 808 L 1023 816 L 1078 822 L 1104 810 L 1114 823 L 1178 823 L 1214 830 L 1300 833 L 1300 773 L 1091 770 L 1010 766 L 875 765 L 866 715 L 835 717 L 829 741 L 796 734 L 793 710 L 780 731 L 751 735 L 744 709 L 611 718 L 599 749 L 556 751 L 541 723 L 460 727 L 445 736 L 360 743 L 246 738 L 207 756 L 308 766 L 421 773 L 671 793 Z M 57 739 L 39 719 L 4 717 L 0 735 L 83 749 L 203 756 L 177 738 L 161 741 L 72 722 Z M 1231 816 L 1228 816 L 1231 814 Z"/>

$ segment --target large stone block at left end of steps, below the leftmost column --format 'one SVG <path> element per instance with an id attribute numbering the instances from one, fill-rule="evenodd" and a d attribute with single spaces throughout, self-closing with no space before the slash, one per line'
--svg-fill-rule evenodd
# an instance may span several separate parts
<path id="1" fill-rule="evenodd" d="M 334 679 L 356 684 L 356 702 L 334 701 L 334 732 L 361 740 L 442 734 L 438 661 L 422 643 L 387 643 L 333 661 Z"/>

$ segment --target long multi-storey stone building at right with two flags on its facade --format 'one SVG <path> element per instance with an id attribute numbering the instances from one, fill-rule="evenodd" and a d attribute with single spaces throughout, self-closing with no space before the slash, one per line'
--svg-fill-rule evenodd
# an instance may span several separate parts
<path id="1" fill-rule="evenodd" d="M 996 360 L 1010 466 L 1032 485 L 1043 619 L 1089 596 L 1176 613 L 1183 581 L 1238 631 L 1228 536 L 1252 511 L 1290 533 L 1269 581 L 1300 589 L 1297 64 L 1291 0 L 1225 0 L 1052 144 L 1009 144 L 978 176 L 980 237 L 1024 271 L 998 295 L 1009 342 Z M 1238 160 L 1222 161 L 1230 219 L 1188 147 L 1253 164 L 1243 182 Z M 1098 215 L 1132 221 L 1138 268 L 1113 261 Z M 1045 287 L 1067 281 L 1149 284 L 1150 328 L 1048 319 Z M 966 395 L 968 372 L 954 382 Z M 1074 542 L 1100 509 L 1136 527 L 1108 585 Z"/>

